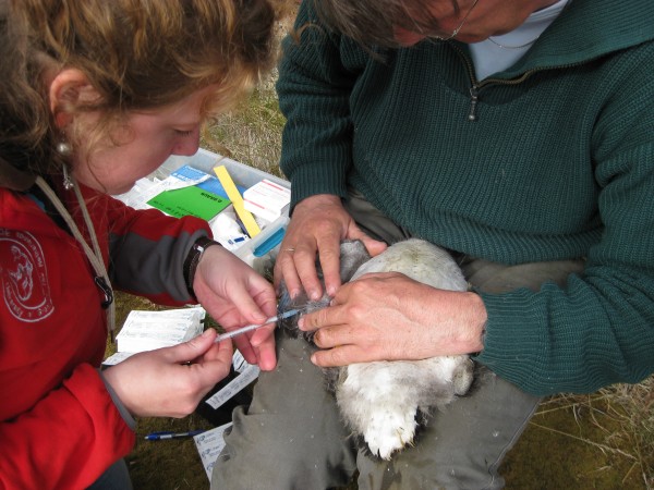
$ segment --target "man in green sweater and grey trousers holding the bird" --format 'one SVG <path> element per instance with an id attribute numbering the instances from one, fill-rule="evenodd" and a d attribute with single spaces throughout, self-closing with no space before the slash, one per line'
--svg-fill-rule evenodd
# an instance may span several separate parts
<path id="1" fill-rule="evenodd" d="M 361 489 L 499 488 L 541 396 L 654 371 L 652 19 L 651 0 L 302 3 L 278 83 L 293 212 L 276 280 L 319 296 L 317 256 L 332 306 L 300 321 L 316 352 L 278 339 L 216 487 L 358 469 Z M 410 235 L 451 250 L 473 290 L 340 285 L 341 240 L 375 255 Z M 479 387 L 390 462 L 356 453 L 308 360 L 456 354 Z"/>

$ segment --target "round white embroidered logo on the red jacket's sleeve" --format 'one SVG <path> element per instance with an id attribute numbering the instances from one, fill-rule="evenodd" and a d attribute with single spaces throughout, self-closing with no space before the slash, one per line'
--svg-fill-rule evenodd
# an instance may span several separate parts
<path id="1" fill-rule="evenodd" d="M 34 322 L 55 310 L 40 244 L 27 233 L 0 228 L 2 298 L 11 314 Z"/>

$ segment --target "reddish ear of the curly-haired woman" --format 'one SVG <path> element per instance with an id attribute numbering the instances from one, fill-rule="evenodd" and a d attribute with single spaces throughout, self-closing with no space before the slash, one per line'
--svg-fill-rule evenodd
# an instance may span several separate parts
<path id="1" fill-rule="evenodd" d="M 97 101 L 100 95 L 82 71 L 64 69 L 50 83 L 49 97 L 55 123 L 62 128 L 74 118 L 69 108 Z"/>

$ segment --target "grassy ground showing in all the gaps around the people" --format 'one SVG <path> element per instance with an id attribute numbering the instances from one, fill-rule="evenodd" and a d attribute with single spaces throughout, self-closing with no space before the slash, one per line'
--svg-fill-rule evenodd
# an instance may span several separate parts
<path id="1" fill-rule="evenodd" d="M 275 73 L 238 112 L 209 127 L 203 146 L 280 175 L 283 117 L 274 81 Z M 124 294 L 117 296 L 117 305 L 119 326 L 131 309 L 156 308 Z M 210 427 L 196 414 L 184 419 L 140 419 L 136 446 L 128 458 L 135 489 L 208 489 L 192 440 L 143 438 L 156 430 Z M 507 489 L 654 489 L 654 377 L 589 395 L 548 397 L 508 454 L 501 474 Z"/>

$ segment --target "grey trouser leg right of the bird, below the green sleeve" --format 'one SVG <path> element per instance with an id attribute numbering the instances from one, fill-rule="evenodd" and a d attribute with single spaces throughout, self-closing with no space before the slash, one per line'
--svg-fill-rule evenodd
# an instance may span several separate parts
<path id="1" fill-rule="evenodd" d="M 473 393 L 438 411 L 390 462 L 359 453 L 359 489 L 497 489 L 497 468 L 540 399 L 481 367 Z"/>

